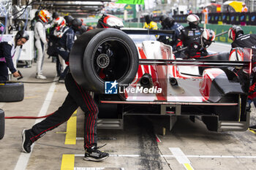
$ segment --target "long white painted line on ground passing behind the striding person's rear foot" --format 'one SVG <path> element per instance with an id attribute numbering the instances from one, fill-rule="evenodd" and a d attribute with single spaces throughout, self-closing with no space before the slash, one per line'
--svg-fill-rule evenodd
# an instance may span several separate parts
<path id="1" fill-rule="evenodd" d="M 55 77 L 53 81 L 56 81 L 56 80 L 57 80 L 57 77 Z M 55 88 L 56 88 L 56 82 L 53 82 L 50 85 L 48 93 L 45 97 L 45 101 L 42 104 L 41 110 L 40 110 L 39 114 L 37 115 L 38 117 L 46 114 L 48 107 L 50 105 L 50 101 L 53 98 L 53 93 L 54 93 Z M 34 124 L 39 123 L 41 120 L 42 119 L 37 119 Z M 31 145 L 31 152 L 33 151 L 33 147 L 34 147 L 34 144 Z M 26 169 L 26 166 L 29 163 L 29 158 L 30 158 L 31 152 L 30 153 L 24 153 L 24 152 L 20 153 L 20 157 L 18 159 L 18 162 L 16 163 L 15 170 L 25 170 Z"/>

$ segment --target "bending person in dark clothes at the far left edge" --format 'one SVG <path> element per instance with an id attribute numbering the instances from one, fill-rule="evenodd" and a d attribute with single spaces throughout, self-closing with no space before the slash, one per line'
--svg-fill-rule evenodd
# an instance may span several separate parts
<path id="1" fill-rule="evenodd" d="M 25 31 L 18 31 L 15 37 L 7 42 L 2 37 L 0 42 L 0 82 L 6 82 L 8 79 L 8 68 L 12 72 L 13 77 L 20 77 L 12 62 L 15 55 L 16 47 L 24 45 L 29 40 L 29 34 Z"/>

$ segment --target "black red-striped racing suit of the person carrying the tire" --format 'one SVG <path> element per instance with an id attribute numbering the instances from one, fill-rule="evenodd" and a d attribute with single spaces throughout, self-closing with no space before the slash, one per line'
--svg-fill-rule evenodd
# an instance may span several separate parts
<path id="1" fill-rule="evenodd" d="M 74 31 L 69 30 L 69 35 L 67 38 L 71 38 Z M 73 43 L 74 41 L 72 41 Z M 72 44 L 66 42 L 67 47 L 71 50 Z M 68 56 L 68 55 L 67 55 Z M 68 58 L 66 58 L 68 61 Z M 89 91 L 83 89 L 77 82 L 75 82 L 71 73 L 68 73 L 65 78 L 65 85 L 68 91 L 67 97 L 59 109 L 53 113 L 53 115 L 48 116 L 42 122 L 37 123 L 31 129 L 29 129 L 29 139 L 31 142 L 37 141 L 41 136 L 43 136 L 47 131 L 53 130 L 53 128 L 58 127 L 62 123 L 69 120 L 78 107 L 80 107 L 83 112 L 85 112 L 84 120 L 84 148 L 90 148 L 97 146 L 97 115 L 98 107 L 94 99 L 89 94 Z"/>

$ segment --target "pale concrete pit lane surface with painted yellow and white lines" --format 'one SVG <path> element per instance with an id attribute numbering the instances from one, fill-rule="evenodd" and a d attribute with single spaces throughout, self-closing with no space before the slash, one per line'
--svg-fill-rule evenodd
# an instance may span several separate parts
<path id="1" fill-rule="evenodd" d="M 224 45 L 213 49 L 220 47 Z M 45 63 L 45 75 L 53 80 L 55 63 L 47 58 Z M 33 64 L 32 68 L 20 69 L 23 81 L 39 81 L 34 79 L 35 68 Z M 25 84 L 23 101 L 0 103 L 0 107 L 6 116 L 45 115 L 61 106 L 66 95 L 64 84 Z M 251 115 L 251 124 L 255 124 L 255 107 Z M 98 144 L 107 143 L 102 150 L 109 152 L 110 158 L 100 163 L 83 161 L 80 109 L 68 123 L 39 139 L 31 154 L 21 153 L 22 129 L 31 128 L 38 121 L 6 120 L 5 136 L 0 141 L 0 169 L 255 169 L 256 166 L 256 137 L 252 131 L 211 132 L 199 120 L 192 123 L 187 117 L 178 119 L 165 136 L 162 136 L 164 120 L 127 117 L 124 131 L 98 130 Z"/>

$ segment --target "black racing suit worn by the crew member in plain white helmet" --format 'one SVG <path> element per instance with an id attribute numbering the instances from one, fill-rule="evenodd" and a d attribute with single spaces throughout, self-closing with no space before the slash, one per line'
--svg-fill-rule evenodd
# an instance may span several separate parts
<path id="1" fill-rule="evenodd" d="M 203 28 L 200 26 L 186 26 L 181 30 L 177 48 L 181 48 L 181 45 L 187 47 L 185 50 L 186 58 L 200 58 L 200 56 L 208 55 L 207 50 L 201 45 L 200 37 L 202 34 Z"/>

